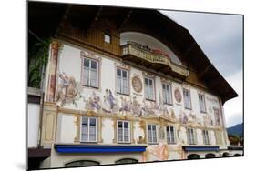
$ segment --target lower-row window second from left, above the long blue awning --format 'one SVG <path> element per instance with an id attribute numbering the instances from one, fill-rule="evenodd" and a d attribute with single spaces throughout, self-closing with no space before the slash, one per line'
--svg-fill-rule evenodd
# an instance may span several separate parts
<path id="1" fill-rule="evenodd" d="M 118 142 L 130 142 L 130 126 L 128 121 L 118 121 Z"/>

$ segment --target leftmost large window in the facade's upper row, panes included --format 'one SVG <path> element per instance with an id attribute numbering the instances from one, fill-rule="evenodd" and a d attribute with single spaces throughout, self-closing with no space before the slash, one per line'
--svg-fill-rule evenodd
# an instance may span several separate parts
<path id="1" fill-rule="evenodd" d="M 84 58 L 83 85 L 98 87 L 98 62 L 90 58 Z"/>

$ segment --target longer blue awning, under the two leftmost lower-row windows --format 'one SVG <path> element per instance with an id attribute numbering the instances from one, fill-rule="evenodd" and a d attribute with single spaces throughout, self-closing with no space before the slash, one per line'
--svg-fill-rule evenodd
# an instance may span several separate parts
<path id="1" fill-rule="evenodd" d="M 147 146 L 55 145 L 58 153 L 124 153 L 144 152 Z"/>

